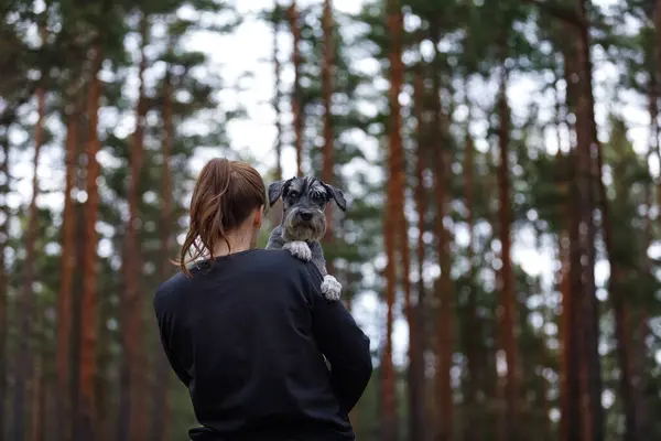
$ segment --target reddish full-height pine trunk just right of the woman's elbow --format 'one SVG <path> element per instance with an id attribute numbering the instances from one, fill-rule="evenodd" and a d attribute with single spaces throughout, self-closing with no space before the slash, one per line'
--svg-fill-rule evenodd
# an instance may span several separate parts
<path id="1" fill-rule="evenodd" d="M 383 354 L 382 369 L 382 422 L 381 422 L 381 439 L 384 441 L 394 441 L 399 439 L 399 421 L 397 415 L 397 376 L 392 365 L 392 325 L 393 325 L 393 308 L 394 297 L 397 291 L 397 269 L 395 269 L 395 247 L 398 241 L 398 227 L 401 218 L 398 214 L 402 209 L 402 203 L 398 185 L 402 186 L 401 178 L 403 176 L 402 168 L 402 139 L 401 139 L 401 117 L 399 94 L 403 82 L 403 65 L 401 62 L 401 22 L 402 11 L 398 0 L 389 0 L 387 3 L 387 26 L 390 32 L 391 47 L 389 53 L 390 60 L 390 90 L 389 90 L 389 108 L 390 108 L 390 126 L 388 140 L 388 184 L 387 184 L 387 207 L 386 207 L 386 256 L 388 262 L 386 265 L 386 283 L 387 283 L 387 335 L 386 351 Z"/>

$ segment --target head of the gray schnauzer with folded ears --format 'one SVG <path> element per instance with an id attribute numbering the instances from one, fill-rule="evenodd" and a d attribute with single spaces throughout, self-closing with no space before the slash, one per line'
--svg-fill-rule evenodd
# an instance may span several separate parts
<path id="1" fill-rule="evenodd" d="M 315 178 L 292 178 L 269 185 L 269 204 L 282 197 L 282 234 L 286 240 L 319 240 L 326 233 L 326 205 L 335 201 L 344 212 L 347 202 L 339 189 Z"/>

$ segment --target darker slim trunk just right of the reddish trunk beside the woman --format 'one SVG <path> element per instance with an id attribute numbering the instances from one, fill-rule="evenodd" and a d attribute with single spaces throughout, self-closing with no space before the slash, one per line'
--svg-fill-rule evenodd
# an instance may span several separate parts
<path id="1" fill-rule="evenodd" d="M 418 211 L 418 303 L 410 306 L 409 319 L 409 439 L 424 440 L 424 343 L 421 318 L 424 311 L 424 233 L 426 230 L 427 194 L 424 187 L 425 162 L 429 161 L 424 147 L 424 77 L 422 66 L 415 66 L 413 83 L 413 111 L 416 120 L 415 208 Z M 403 212 L 403 211 L 402 211 Z"/>

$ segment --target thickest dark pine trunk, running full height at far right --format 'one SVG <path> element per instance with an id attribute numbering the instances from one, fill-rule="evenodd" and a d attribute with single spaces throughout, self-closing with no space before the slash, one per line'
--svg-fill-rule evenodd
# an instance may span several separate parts
<path id="1" fill-rule="evenodd" d="M 586 0 L 578 0 L 578 15 L 584 23 L 587 23 Z M 585 346 L 582 354 L 586 361 L 586 372 L 584 384 L 587 386 L 584 390 L 584 406 L 589 406 L 589 418 L 584 420 L 584 435 L 587 440 L 604 439 L 604 411 L 602 408 L 602 368 L 598 352 L 599 343 L 599 312 L 595 290 L 595 185 L 599 191 L 602 201 L 602 218 L 604 222 L 606 251 L 610 260 L 610 224 L 608 216 L 607 202 L 605 200 L 606 191 L 602 181 L 602 159 L 600 149 L 597 141 L 597 130 L 594 114 L 594 98 L 592 88 L 592 61 L 589 26 L 585 24 L 579 28 L 579 35 L 576 40 L 577 49 L 577 72 L 578 72 L 578 100 L 576 109 L 576 140 L 578 144 L 578 159 L 581 176 L 578 176 L 579 194 L 583 204 L 583 219 L 585 225 L 585 267 L 583 277 L 585 278 L 584 295 L 582 298 L 582 320 L 585 323 Z M 596 153 L 596 154 L 595 154 Z M 597 162 L 593 160 L 597 157 Z M 616 319 L 617 320 L 617 319 Z M 617 325 L 616 325 L 617 326 Z"/>

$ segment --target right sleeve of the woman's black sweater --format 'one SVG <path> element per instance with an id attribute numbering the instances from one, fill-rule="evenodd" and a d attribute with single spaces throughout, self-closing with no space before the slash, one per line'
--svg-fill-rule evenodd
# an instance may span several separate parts
<path id="1" fill-rule="evenodd" d="M 327 301 L 322 275 L 307 265 L 314 337 L 330 363 L 335 394 L 347 413 L 356 406 L 372 374 L 370 341 L 342 302 Z"/>

